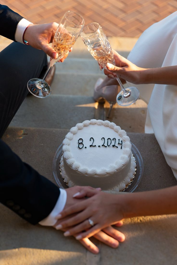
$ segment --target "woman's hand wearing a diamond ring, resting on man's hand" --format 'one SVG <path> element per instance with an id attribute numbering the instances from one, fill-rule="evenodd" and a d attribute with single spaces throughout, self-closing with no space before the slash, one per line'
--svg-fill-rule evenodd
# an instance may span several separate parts
<path id="1" fill-rule="evenodd" d="M 80 194 L 77 193 L 74 195 L 75 198 L 81 198 L 83 196 L 92 197 L 78 202 L 72 205 L 72 207 L 67 207 L 57 217 L 60 219 L 60 222 L 58 220 L 56 228 L 67 229 L 64 233 L 65 236 L 79 233 L 76 236 L 78 240 L 90 237 L 103 228 L 115 224 L 124 218 L 122 206 L 124 196 L 126 195 L 113 195 L 89 188 L 84 190 L 83 193 L 80 192 Z M 63 221 L 61 219 L 75 213 L 77 215 L 67 218 L 67 220 Z M 93 221 L 93 226 L 89 223 L 89 219 Z M 83 230 L 87 231 L 80 233 Z"/>

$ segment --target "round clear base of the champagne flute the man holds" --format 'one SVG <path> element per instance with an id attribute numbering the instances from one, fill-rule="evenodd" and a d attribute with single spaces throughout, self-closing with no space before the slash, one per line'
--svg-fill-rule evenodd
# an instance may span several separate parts
<path id="1" fill-rule="evenodd" d="M 28 81 L 27 87 L 29 92 L 34 95 L 37 98 L 46 98 L 50 95 L 51 93 L 51 88 L 44 81 L 43 85 L 41 84 L 42 79 L 40 78 L 32 78 Z"/>

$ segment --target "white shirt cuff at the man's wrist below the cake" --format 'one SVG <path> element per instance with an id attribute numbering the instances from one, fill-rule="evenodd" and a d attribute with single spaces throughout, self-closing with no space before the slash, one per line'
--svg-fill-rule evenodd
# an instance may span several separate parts
<path id="1" fill-rule="evenodd" d="M 42 221 L 39 222 L 42 226 L 54 226 L 57 222 L 55 217 L 64 209 L 67 200 L 67 193 L 65 189 L 60 189 L 60 196 L 55 204 L 55 207 L 51 211 L 51 213 Z"/>

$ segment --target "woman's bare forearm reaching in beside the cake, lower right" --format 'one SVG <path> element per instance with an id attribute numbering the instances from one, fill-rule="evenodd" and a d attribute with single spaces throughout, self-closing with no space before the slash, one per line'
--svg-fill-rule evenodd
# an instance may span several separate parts
<path id="1" fill-rule="evenodd" d="M 177 186 L 129 193 L 122 199 L 124 218 L 177 213 Z"/>

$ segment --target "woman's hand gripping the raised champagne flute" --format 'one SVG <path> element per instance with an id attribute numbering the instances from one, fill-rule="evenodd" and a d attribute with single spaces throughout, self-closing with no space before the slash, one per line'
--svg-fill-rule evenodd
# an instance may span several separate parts
<path id="1" fill-rule="evenodd" d="M 104 69 L 105 75 L 110 78 L 122 78 L 133 84 L 145 83 L 145 68 L 137 67 L 126 58 L 113 50 L 115 65 L 107 63 L 107 69 Z"/>

